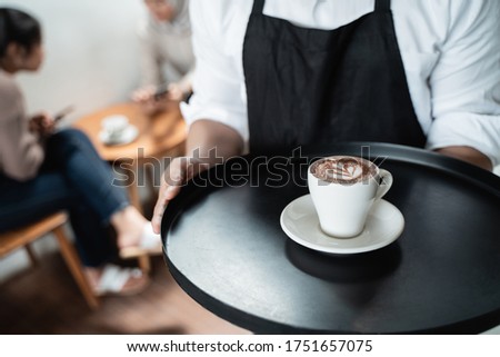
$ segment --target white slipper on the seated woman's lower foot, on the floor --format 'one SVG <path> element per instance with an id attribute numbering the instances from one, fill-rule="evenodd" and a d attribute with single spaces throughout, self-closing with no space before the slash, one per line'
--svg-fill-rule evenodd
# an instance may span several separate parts
<path id="1" fill-rule="evenodd" d="M 139 284 L 137 287 L 124 288 L 124 286 L 130 279 L 140 279 L 142 277 L 140 269 L 122 268 L 108 264 L 102 269 L 94 294 L 97 296 L 138 294 L 149 285 L 149 278 L 143 280 L 144 284 Z"/>

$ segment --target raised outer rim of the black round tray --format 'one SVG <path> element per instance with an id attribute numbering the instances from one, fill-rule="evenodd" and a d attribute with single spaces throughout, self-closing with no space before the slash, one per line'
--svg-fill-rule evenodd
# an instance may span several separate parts
<path id="1" fill-rule="evenodd" d="M 458 159 L 446 157 L 436 152 L 431 152 L 423 149 L 391 145 L 391 143 L 380 143 L 380 142 L 343 142 L 338 145 L 319 145 L 319 146 L 307 146 L 302 147 L 302 153 L 307 157 L 324 157 L 329 155 L 356 155 L 354 150 L 359 150 L 360 146 L 370 146 L 371 153 L 373 156 L 388 156 L 391 161 L 402 161 L 404 163 L 413 163 L 418 166 L 424 166 L 427 168 L 434 169 L 437 171 L 444 172 L 447 175 L 457 177 L 461 180 L 466 180 L 477 186 L 478 189 L 486 189 L 491 192 L 497 198 L 500 198 L 500 177 L 496 176 L 492 172 L 478 168 L 473 165 L 470 165 L 464 161 L 460 161 Z M 289 155 L 290 151 L 283 152 Z M 278 155 L 278 153 L 277 153 Z M 247 155 L 238 157 L 239 159 L 243 158 L 246 160 L 251 160 L 256 156 Z M 222 170 L 223 165 L 216 166 L 210 170 Z M 209 171 L 210 171 L 209 170 Z M 196 185 L 188 184 L 184 187 L 179 196 L 174 198 L 166 208 L 166 212 L 163 215 L 162 224 L 161 224 L 161 237 L 164 245 L 164 258 L 169 269 L 172 271 L 172 276 L 178 281 L 180 286 L 183 287 L 184 291 L 191 296 L 196 301 L 201 304 L 203 301 L 203 306 L 208 308 L 210 311 L 216 315 L 224 318 L 233 324 L 237 324 L 243 328 L 250 329 L 252 331 L 267 333 L 267 334 L 332 334 L 331 330 L 310 330 L 307 328 L 302 328 L 299 326 L 288 326 L 278 321 L 271 321 L 263 317 L 256 317 L 249 313 L 246 313 L 237 307 L 227 306 L 223 301 L 218 300 L 216 297 L 207 294 L 206 291 L 200 290 L 196 287 L 190 279 L 180 271 L 174 262 L 168 256 L 168 236 L 170 229 L 174 227 L 178 221 L 180 215 L 189 208 L 191 202 L 196 201 L 200 198 L 200 195 L 209 195 L 210 191 L 223 188 L 221 187 L 199 187 Z M 494 317 L 493 317 L 494 315 Z M 471 334 L 471 333 L 480 333 L 487 330 L 493 326 L 497 326 L 497 319 L 500 316 L 500 310 L 489 311 L 488 314 L 477 316 L 470 319 L 466 319 L 463 321 L 446 325 L 446 326 L 433 326 L 429 327 L 424 330 L 414 330 L 409 331 L 410 334 L 414 333 L 427 333 L 427 334 L 442 334 L 442 333 L 452 333 L 452 334 Z M 256 320 L 257 319 L 257 320 Z M 262 327 L 262 323 L 268 324 L 267 327 Z M 344 331 L 339 330 L 339 334 L 353 334 L 354 331 Z M 389 331 L 381 331 L 382 334 Z M 390 333 L 393 334 L 393 333 Z"/>

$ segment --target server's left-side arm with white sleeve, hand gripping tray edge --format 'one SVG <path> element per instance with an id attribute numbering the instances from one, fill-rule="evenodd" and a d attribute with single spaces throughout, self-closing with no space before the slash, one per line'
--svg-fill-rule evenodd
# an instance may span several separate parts
<path id="1" fill-rule="evenodd" d="M 248 139 L 247 107 L 241 98 L 243 79 L 236 69 L 236 58 L 224 49 L 223 36 L 228 32 L 221 27 L 222 16 L 228 16 L 226 10 L 209 1 L 191 2 L 197 62 L 194 93 L 189 103 L 181 103 L 189 125 L 187 156 L 173 159 L 163 175 L 152 218 L 156 232 L 160 231 L 167 204 L 182 185 L 201 170 L 241 155 Z"/>

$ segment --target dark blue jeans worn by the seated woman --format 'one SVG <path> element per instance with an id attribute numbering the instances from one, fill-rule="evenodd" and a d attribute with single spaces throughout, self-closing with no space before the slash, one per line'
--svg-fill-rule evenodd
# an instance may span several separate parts
<path id="1" fill-rule="evenodd" d="M 57 132 L 47 140 L 36 178 L 21 182 L 0 173 L 0 232 L 67 210 L 83 264 L 98 267 L 116 257 L 109 220 L 129 205 L 112 181 L 109 165 L 84 133 Z"/>

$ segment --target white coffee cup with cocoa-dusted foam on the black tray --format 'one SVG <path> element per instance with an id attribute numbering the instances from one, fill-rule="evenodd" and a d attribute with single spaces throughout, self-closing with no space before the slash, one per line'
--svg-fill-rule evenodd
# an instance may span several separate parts
<path id="1" fill-rule="evenodd" d="M 327 157 L 308 168 L 308 187 L 321 229 L 336 238 L 361 234 L 373 205 L 391 186 L 389 171 L 359 157 Z"/>

